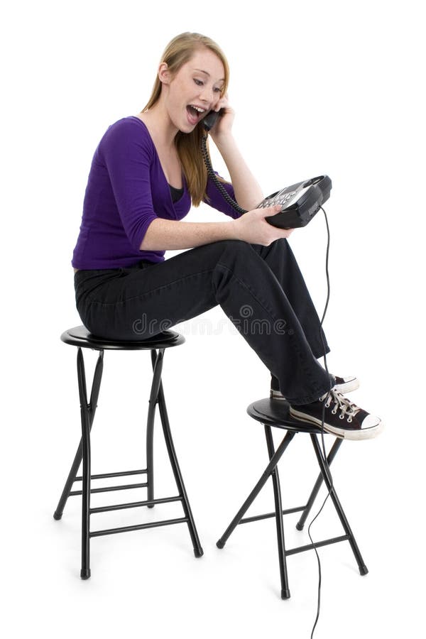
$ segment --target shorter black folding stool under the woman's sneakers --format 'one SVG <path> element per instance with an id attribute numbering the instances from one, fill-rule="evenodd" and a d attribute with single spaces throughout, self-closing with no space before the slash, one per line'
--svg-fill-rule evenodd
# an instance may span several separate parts
<path id="1" fill-rule="evenodd" d="M 317 497 L 318 491 L 320 490 L 320 486 L 322 481 L 325 482 L 327 489 L 330 490 L 332 486 L 332 482 L 329 479 L 329 474 L 327 472 L 327 466 L 324 464 L 324 459 L 322 458 L 322 450 L 320 448 L 320 442 L 318 442 L 317 435 L 321 434 L 321 429 L 305 422 L 297 422 L 291 420 L 291 417 L 288 414 L 289 405 L 285 400 L 271 400 L 269 398 L 258 400 L 253 402 L 247 408 L 247 413 L 249 413 L 250 417 L 261 422 L 265 427 L 265 435 L 266 435 L 266 445 L 268 447 L 268 456 L 269 456 L 269 464 L 266 466 L 265 471 L 259 479 L 256 486 L 251 491 L 249 497 L 244 502 L 243 506 L 239 509 L 238 513 L 236 513 L 234 519 L 229 524 L 229 527 L 226 528 L 224 535 L 217 542 L 218 548 L 223 548 L 226 540 L 231 535 L 231 532 L 236 528 L 236 525 L 240 523 L 248 523 L 250 521 L 258 521 L 261 519 L 268 519 L 271 517 L 275 517 L 276 519 L 276 528 L 277 528 L 277 540 L 278 540 L 278 556 L 280 560 L 280 577 L 281 577 L 281 597 L 282 599 L 288 599 L 290 597 L 290 590 L 288 588 L 288 575 L 287 575 L 287 563 L 285 561 L 285 557 L 288 555 L 295 555 L 296 552 L 303 552 L 305 550 L 311 550 L 314 546 L 312 544 L 308 544 L 305 546 L 300 546 L 297 548 L 292 548 L 291 550 L 285 550 L 284 543 L 284 528 L 283 528 L 283 515 L 288 515 L 290 513 L 297 513 L 302 511 L 302 515 L 300 520 L 296 524 L 297 530 L 303 530 L 303 526 L 305 525 L 305 521 L 307 516 L 310 513 L 310 509 Z M 286 430 L 285 437 L 283 441 L 278 446 L 276 452 L 273 445 L 273 438 L 271 432 L 271 426 L 282 428 Z M 310 438 L 312 441 L 312 446 L 314 447 L 315 454 L 317 456 L 318 464 L 320 465 L 320 476 L 315 483 L 314 488 L 312 489 L 312 493 L 310 494 L 310 498 L 307 500 L 307 504 L 305 506 L 299 506 L 297 508 L 289 508 L 288 510 L 283 510 L 281 506 L 281 491 L 280 491 L 280 479 L 278 476 L 278 461 L 280 460 L 281 455 L 290 444 L 291 440 L 295 436 L 297 432 L 307 432 L 310 434 Z M 330 449 L 329 454 L 327 455 L 328 464 L 331 464 L 334 457 L 339 450 L 339 447 L 342 444 L 343 439 L 339 437 L 336 438 L 332 449 Z M 269 476 L 272 475 L 273 481 L 273 493 L 275 498 L 275 513 L 268 513 L 266 515 L 256 515 L 254 517 L 246 517 L 243 519 L 244 513 L 249 509 L 254 499 L 261 491 L 261 488 L 268 481 Z M 332 491 L 330 493 L 330 497 L 334 503 L 334 508 L 336 508 L 337 515 L 339 515 L 340 521 L 342 522 L 342 526 L 344 528 L 345 535 L 341 537 L 332 537 L 331 539 L 322 540 L 319 542 L 315 542 L 316 547 L 326 546 L 328 544 L 335 544 L 337 542 L 349 541 L 351 545 L 351 549 L 354 552 L 356 562 L 359 567 L 359 572 L 361 574 L 367 574 L 368 569 L 364 564 L 364 560 L 361 557 L 361 553 L 359 552 L 359 548 L 356 545 L 354 534 L 349 527 L 349 523 L 346 520 L 346 516 L 344 514 L 343 508 L 337 498 L 337 494 L 334 488 L 332 487 Z"/>

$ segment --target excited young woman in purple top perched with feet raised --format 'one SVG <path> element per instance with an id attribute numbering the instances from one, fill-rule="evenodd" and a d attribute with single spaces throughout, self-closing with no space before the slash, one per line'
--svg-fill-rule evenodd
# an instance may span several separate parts
<path id="1" fill-rule="evenodd" d="M 182 33 L 165 48 L 146 107 L 104 133 L 72 258 L 77 310 L 90 332 L 135 340 L 220 305 L 271 372 L 271 397 L 285 397 L 295 419 L 321 424 L 325 405 L 328 432 L 374 437 L 381 420 L 342 394 L 356 378 L 329 376 L 317 361 L 322 337 L 329 349 L 288 246 L 292 231 L 266 222 L 278 207 L 256 209 L 264 196 L 231 133 L 228 82 L 219 46 Z M 200 151 L 202 119 L 220 109 L 209 135 L 231 182 L 218 177 L 243 215 L 207 177 Z M 231 219 L 181 222 L 200 202 Z M 168 249 L 190 250 L 165 260 Z"/>

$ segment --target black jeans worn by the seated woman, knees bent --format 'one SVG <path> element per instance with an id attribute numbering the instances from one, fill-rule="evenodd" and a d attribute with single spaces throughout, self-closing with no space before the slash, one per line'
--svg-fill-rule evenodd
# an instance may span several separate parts
<path id="1" fill-rule="evenodd" d="M 317 361 L 320 319 L 285 239 L 270 246 L 223 240 L 160 263 L 80 270 L 75 296 L 90 332 L 124 340 L 146 339 L 220 305 L 290 403 L 329 390 L 332 378 Z M 328 352 L 325 337 L 324 344 Z"/>

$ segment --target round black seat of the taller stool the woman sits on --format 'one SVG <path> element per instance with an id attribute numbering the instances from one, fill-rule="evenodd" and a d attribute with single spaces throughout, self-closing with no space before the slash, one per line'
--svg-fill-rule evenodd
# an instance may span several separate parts
<path id="1" fill-rule="evenodd" d="M 170 346 L 179 346 L 185 342 L 185 337 L 175 331 L 163 331 L 147 339 L 117 340 L 98 337 L 89 332 L 84 326 L 75 326 L 67 329 L 60 336 L 65 344 L 81 346 L 83 349 L 102 351 L 114 349 L 120 351 L 143 351 L 149 349 L 168 349 Z"/>

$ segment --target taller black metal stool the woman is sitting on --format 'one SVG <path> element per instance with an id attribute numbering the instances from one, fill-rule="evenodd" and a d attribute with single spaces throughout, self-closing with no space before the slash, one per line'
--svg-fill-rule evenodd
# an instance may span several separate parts
<path id="1" fill-rule="evenodd" d="M 192 518 L 190 503 L 187 498 L 185 486 L 183 484 L 182 475 L 180 474 L 178 458 L 176 457 L 175 447 L 173 446 L 173 439 L 170 433 L 170 425 L 168 421 L 167 410 L 165 408 L 165 400 L 163 393 L 163 383 L 161 381 L 161 371 L 163 368 L 163 356 L 165 349 L 169 349 L 172 346 L 179 346 L 185 342 L 185 337 L 176 333 L 175 331 L 164 331 L 158 335 L 155 335 L 151 339 L 145 339 L 138 342 L 116 342 L 110 339 L 103 339 L 102 337 L 96 337 L 89 333 L 84 326 L 77 326 L 72 329 L 68 329 L 60 336 L 62 342 L 65 344 L 72 344 L 77 346 L 77 375 L 78 375 L 78 390 L 80 394 L 80 408 L 81 408 L 81 420 L 82 420 L 82 439 L 77 449 L 75 459 L 72 463 L 70 474 L 65 482 L 65 487 L 62 491 L 58 507 L 55 510 L 53 517 L 60 519 L 62 517 L 65 503 L 70 495 L 82 495 L 82 569 L 80 576 L 82 579 L 88 579 L 90 577 L 90 538 L 99 537 L 100 535 L 110 535 L 114 532 L 126 532 L 127 530 L 141 530 L 141 528 L 154 528 L 157 526 L 171 525 L 175 523 L 184 523 L 188 525 L 192 545 L 194 547 L 195 557 L 201 557 L 203 554 L 200 540 L 195 529 L 194 519 Z M 86 390 L 86 378 L 84 374 L 84 358 L 82 355 L 82 349 L 92 349 L 99 351 L 97 364 L 94 369 L 94 376 L 92 382 L 92 390 L 90 392 L 90 401 L 87 402 L 87 390 Z M 151 394 L 149 398 L 148 406 L 148 421 L 146 430 L 146 469 L 123 471 L 118 473 L 106 473 L 91 475 L 90 474 L 90 431 L 94 420 L 94 414 L 97 408 L 97 399 L 99 395 L 99 388 L 101 386 L 102 369 L 104 361 L 104 350 L 115 351 L 143 351 L 151 350 L 151 361 L 153 365 L 153 381 L 151 385 Z M 157 351 L 158 349 L 158 351 Z M 161 424 L 163 426 L 163 434 L 165 438 L 165 444 L 168 450 L 168 456 L 170 458 L 170 464 L 175 476 L 176 485 L 178 487 L 178 496 L 167 497 L 161 499 L 154 499 L 154 475 L 153 475 L 153 427 L 155 417 L 155 405 L 158 404 L 160 410 Z M 77 471 L 80 467 L 80 463 L 83 461 L 82 476 L 77 477 Z M 146 474 L 146 482 L 143 484 L 129 484 L 125 486 L 109 486 L 105 488 L 91 488 L 91 479 L 104 479 L 107 477 L 121 477 L 129 475 Z M 82 481 L 81 491 L 71 491 L 72 484 L 75 481 Z M 148 498 L 146 501 L 136 501 L 132 503 L 116 504 L 113 506 L 104 506 L 102 508 L 90 508 L 90 493 L 101 493 L 107 491 L 124 490 L 126 488 L 148 488 Z M 168 519 L 163 521 L 157 521 L 154 523 L 144 523 L 133 526 L 126 526 L 124 528 L 109 528 L 109 530 L 90 530 L 90 515 L 94 513 L 104 513 L 110 510 L 123 510 L 124 508 L 136 508 L 138 506 L 148 506 L 153 508 L 155 503 L 169 503 L 172 501 L 180 501 L 185 513 L 185 517 Z"/>

